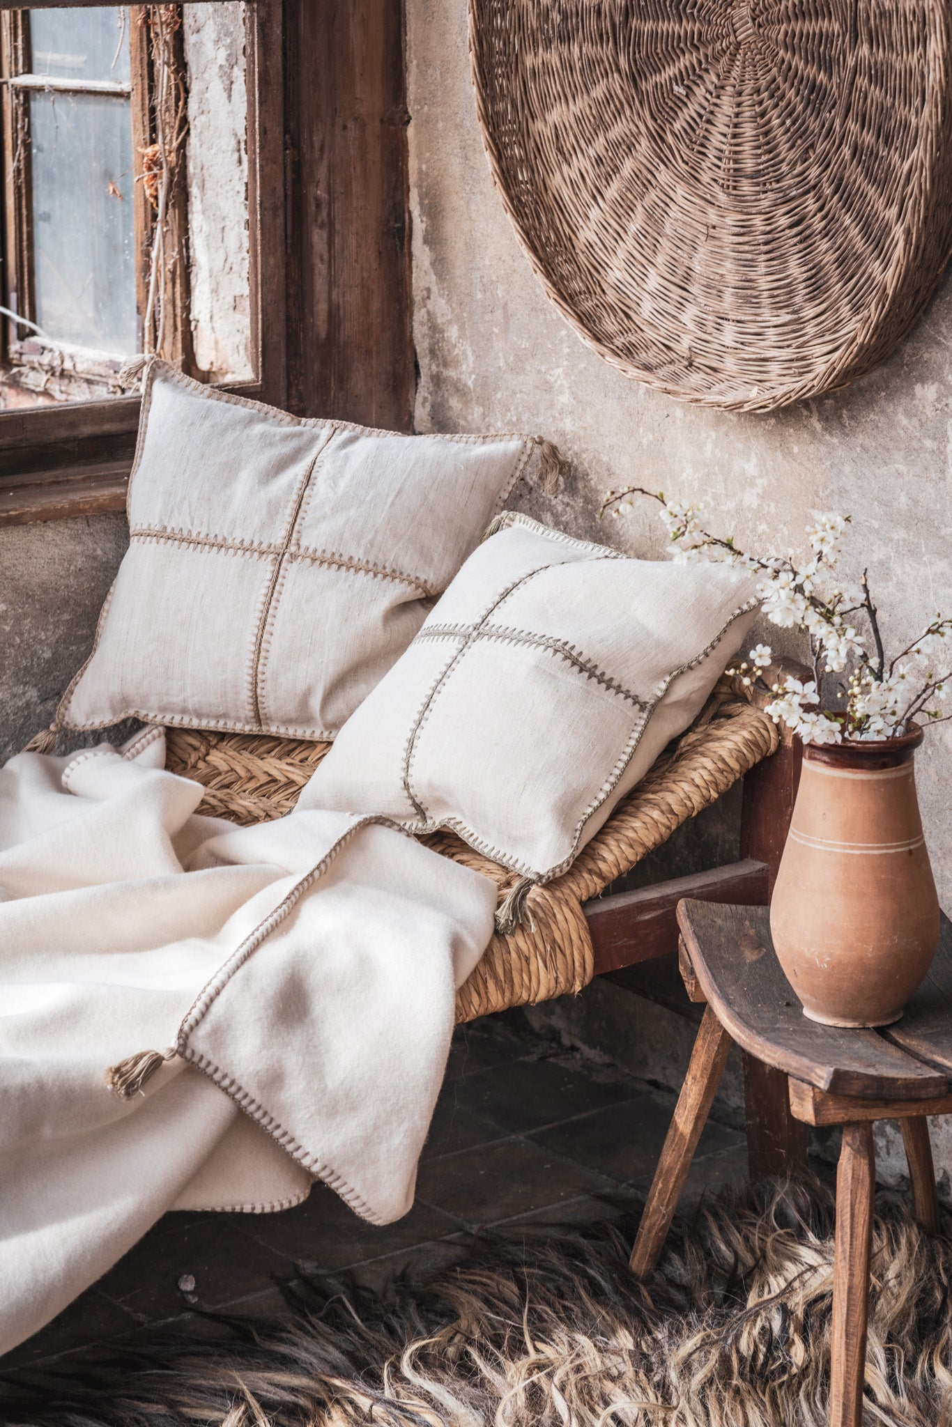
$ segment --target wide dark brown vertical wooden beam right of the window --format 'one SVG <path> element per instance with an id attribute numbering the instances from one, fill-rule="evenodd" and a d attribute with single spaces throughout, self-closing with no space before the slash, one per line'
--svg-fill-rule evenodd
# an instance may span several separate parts
<path id="1" fill-rule="evenodd" d="M 285 0 L 288 395 L 412 424 L 402 0 Z"/>

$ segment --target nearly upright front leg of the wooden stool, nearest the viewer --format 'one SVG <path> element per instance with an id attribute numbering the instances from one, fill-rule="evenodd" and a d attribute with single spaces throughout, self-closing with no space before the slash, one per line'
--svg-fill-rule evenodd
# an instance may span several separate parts
<path id="1" fill-rule="evenodd" d="M 829 1427 L 861 1427 L 876 1157 L 872 1123 L 844 1124 L 836 1169 Z"/>

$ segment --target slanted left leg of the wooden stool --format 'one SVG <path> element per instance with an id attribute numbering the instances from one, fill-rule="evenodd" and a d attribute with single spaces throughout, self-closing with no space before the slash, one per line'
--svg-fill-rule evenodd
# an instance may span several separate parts
<path id="1" fill-rule="evenodd" d="M 661 1256 L 729 1049 L 729 1033 L 705 1006 L 631 1254 L 631 1270 L 638 1279 L 649 1274 Z"/>

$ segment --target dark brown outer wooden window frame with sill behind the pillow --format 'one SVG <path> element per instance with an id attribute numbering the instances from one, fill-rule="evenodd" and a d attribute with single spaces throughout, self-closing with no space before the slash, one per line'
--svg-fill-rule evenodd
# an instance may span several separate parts
<path id="1" fill-rule="evenodd" d="M 67 3 L 93 7 L 106 0 L 33 0 L 29 9 Z M 23 7 L 0 0 L 0 10 L 16 9 Z M 281 0 L 245 4 L 250 345 L 257 377 L 226 387 L 278 407 L 287 404 L 281 11 Z M 0 411 L 0 525 L 124 509 L 138 411 L 138 397 Z"/>

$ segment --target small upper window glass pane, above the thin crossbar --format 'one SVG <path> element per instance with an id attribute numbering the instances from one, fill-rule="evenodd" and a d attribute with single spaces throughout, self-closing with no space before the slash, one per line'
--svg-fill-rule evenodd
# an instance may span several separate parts
<path id="1" fill-rule="evenodd" d="M 128 84 L 128 17 L 120 6 L 34 10 L 31 73 Z"/>

